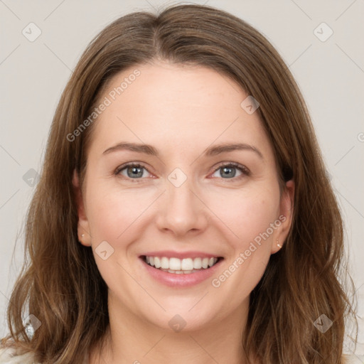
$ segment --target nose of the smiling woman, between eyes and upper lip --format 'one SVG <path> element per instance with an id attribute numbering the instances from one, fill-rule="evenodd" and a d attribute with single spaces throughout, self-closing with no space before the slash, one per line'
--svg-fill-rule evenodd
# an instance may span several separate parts
<path id="1" fill-rule="evenodd" d="M 166 191 L 159 199 L 156 225 L 176 237 L 198 235 L 208 225 L 208 207 L 203 196 L 187 178 L 181 186 L 166 181 Z M 195 191 L 193 191 L 195 190 Z"/>

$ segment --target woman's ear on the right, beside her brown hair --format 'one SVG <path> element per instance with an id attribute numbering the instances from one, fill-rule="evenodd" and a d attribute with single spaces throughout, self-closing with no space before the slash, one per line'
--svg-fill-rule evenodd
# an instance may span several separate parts
<path id="1" fill-rule="evenodd" d="M 287 239 L 289 229 L 291 228 L 293 212 L 294 212 L 294 181 L 290 180 L 286 183 L 284 191 L 282 191 L 281 201 L 279 203 L 279 221 L 281 225 L 275 230 L 273 235 L 271 254 L 278 252 Z M 277 245 L 279 244 L 280 247 Z"/>

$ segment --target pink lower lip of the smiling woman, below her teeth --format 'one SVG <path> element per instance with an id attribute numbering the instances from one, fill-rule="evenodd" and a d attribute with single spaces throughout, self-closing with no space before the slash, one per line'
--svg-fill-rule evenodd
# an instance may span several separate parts
<path id="1" fill-rule="evenodd" d="M 146 272 L 149 272 L 149 274 L 151 274 L 151 277 L 169 287 L 191 287 L 199 284 L 210 278 L 216 272 L 216 270 L 219 269 L 221 262 L 223 262 L 223 259 L 220 259 L 215 265 L 213 265 L 213 267 L 203 269 L 195 273 L 174 274 L 151 267 L 149 264 L 146 264 L 146 262 L 144 262 L 143 258 L 140 259 L 143 263 L 142 265 L 146 269 Z"/>

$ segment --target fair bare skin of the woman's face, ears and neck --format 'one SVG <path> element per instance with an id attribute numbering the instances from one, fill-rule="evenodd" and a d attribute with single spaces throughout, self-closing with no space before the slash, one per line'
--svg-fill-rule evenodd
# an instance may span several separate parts
<path id="1" fill-rule="evenodd" d="M 73 178 L 80 242 L 92 247 L 109 287 L 109 336 L 102 352 L 90 350 L 90 363 L 246 363 L 241 335 L 250 292 L 280 249 L 277 241 L 283 245 L 287 237 L 294 183 L 280 193 L 259 116 L 240 106 L 247 93 L 215 70 L 164 61 L 139 65 L 114 76 L 100 100 L 135 68 L 141 75 L 93 126 L 82 190 L 77 173 Z M 126 150 L 103 154 L 121 141 L 151 144 L 159 156 Z M 220 143 L 249 144 L 262 157 L 247 149 L 203 155 Z M 127 168 L 114 173 L 128 162 L 146 168 L 139 183 Z M 222 162 L 242 164 L 250 174 L 233 167 L 226 174 Z M 175 168 L 187 178 L 179 187 L 168 180 Z M 211 280 L 279 215 L 286 217 L 284 223 L 213 287 Z M 102 241 L 114 249 L 106 260 L 95 253 Z M 142 267 L 139 256 L 148 250 L 198 250 L 224 260 L 211 279 L 167 287 Z M 178 333 L 168 325 L 176 314 L 186 321 Z"/>

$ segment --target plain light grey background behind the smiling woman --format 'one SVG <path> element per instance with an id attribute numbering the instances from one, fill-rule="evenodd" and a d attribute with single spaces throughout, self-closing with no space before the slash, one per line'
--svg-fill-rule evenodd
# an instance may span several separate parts
<path id="1" fill-rule="evenodd" d="M 346 252 L 358 294 L 356 353 L 364 354 L 364 1 L 191 2 L 230 11 L 255 26 L 299 83 L 346 220 Z M 7 332 L 7 297 L 23 260 L 23 223 L 34 191 L 28 170 L 40 170 L 50 122 L 71 70 L 108 23 L 164 4 L 172 2 L 0 0 L 1 337 Z M 22 33 L 36 34 L 34 27 L 29 31 L 31 22 L 41 29 L 33 42 Z M 326 41 L 330 29 L 322 22 L 333 31 Z"/>

